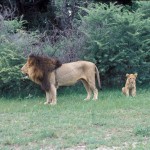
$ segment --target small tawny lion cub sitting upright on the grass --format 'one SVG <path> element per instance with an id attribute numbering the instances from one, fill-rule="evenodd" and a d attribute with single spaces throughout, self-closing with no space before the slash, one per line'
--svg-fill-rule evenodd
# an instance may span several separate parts
<path id="1" fill-rule="evenodd" d="M 137 73 L 135 74 L 126 74 L 127 80 L 125 87 L 122 88 L 122 93 L 126 96 L 136 96 L 136 78 Z"/>

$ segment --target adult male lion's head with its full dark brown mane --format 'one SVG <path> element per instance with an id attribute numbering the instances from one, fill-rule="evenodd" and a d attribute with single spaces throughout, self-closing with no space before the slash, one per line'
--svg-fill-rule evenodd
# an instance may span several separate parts
<path id="1" fill-rule="evenodd" d="M 32 81 L 40 84 L 43 90 L 48 91 L 50 89 L 48 74 L 61 65 L 61 62 L 57 59 L 30 54 L 26 64 L 21 68 L 21 71 Z"/>

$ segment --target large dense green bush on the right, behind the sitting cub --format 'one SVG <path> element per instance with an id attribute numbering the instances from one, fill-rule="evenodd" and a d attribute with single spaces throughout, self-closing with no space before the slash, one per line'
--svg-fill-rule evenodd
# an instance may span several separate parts
<path id="1" fill-rule="evenodd" d="M 97 64 L 107 84 L 120 84 L 126 73 L 133 72 L 140 83 L 149 81 L 150 3 L 146 3 L 135 12 L 114 3 L 82 8 L 87 12 L 80 27 L 87 38 L 84 58 Z"/>

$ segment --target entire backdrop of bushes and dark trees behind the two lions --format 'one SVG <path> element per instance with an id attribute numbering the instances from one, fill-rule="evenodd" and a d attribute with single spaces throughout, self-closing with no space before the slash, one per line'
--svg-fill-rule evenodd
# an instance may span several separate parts
<path id="1" fill-rule="evenodd" d="M 92 61 L 103 87 L 121 87 L 134 72 L 149 86 L 150 2 L 114 2 L 0 0 L 0 95 L 41 91 L 20 72 L 31 52 Z"/>

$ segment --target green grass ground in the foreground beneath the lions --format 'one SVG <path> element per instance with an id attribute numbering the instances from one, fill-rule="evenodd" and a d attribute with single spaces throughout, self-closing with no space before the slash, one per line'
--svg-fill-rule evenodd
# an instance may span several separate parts
<path id="1" fill-rule="evenodd" d="M 150 149 L 150 90 L 137 97 L 119 90 L 60 92 L 56 106 L 45 97 L 0 99 L 0 149 Z"/>

